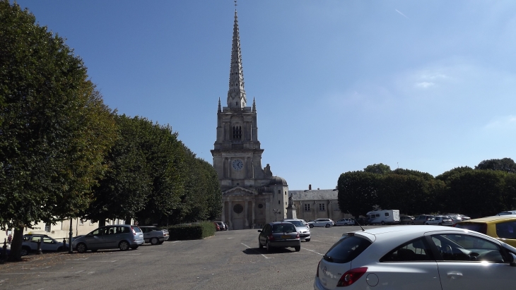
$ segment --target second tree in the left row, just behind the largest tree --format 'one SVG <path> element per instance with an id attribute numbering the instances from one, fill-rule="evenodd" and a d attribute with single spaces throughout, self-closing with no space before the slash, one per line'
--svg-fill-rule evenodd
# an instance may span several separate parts
<path id="1" fill-rule="evenodd" d="M 108 170 L 105 178 L 93 188 L 95 201 L 86 217 L 98 220 L 132 219 L 143 210 L 153 187 L 148 162 L 153 140 L 153 123 L 147 119 L 116 116 L 118 137 L 105 158 Z"/>

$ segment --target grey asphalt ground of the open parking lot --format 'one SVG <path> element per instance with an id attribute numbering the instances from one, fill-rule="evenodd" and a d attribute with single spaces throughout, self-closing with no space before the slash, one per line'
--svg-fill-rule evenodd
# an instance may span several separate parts
<path id="1" fill-rule="evenodd" d="M 368 226 L 370 227 L 370 226 Z M 0 289 L 313 289 L 322 255 L 358 226 L 312 229 L 312 240 L 267 253 L 257 229 L 136 250 L 29 255 L 0 265 Z"/>

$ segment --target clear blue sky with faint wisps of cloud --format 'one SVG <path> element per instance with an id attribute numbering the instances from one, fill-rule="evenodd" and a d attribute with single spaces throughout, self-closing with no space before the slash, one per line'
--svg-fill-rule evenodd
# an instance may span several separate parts
<path id="1" fill-rule="evenodd" d="M 212 162 L 233 1 L 27 1 L 105 103 Z M 291 190 L 383 163 L 437 176 L 515 159 L 516 1 L 238 1 L 262 165 Z"/>

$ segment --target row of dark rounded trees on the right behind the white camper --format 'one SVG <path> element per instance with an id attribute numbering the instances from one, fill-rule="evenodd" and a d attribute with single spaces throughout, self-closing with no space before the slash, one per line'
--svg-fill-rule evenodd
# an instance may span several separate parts
<path id="1" fill-rule="evenodd" d="M 339 176 L 339 208 L 355 216 L 365 215 L 374 207 L 397 209 L 409 215 L 495 215 L 516 207 L 516 174 L 509 170 L 512 163 L 509 158 L 491 159 L 476 169 L 457 167 L 435 178 L 409 169 L 386 173 L 374 170 L 377 164 L 373 164 L 364 171 Z"/>

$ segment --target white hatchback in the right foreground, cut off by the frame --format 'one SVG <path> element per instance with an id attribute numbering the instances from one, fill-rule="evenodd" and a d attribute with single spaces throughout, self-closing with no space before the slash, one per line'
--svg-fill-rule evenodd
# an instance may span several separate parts
<path id="1" fill-rule="evenodd" d="M 314 289 L 512 289 L 516 248 L 465 229 L 389 226 L 343 236 L 317 266 Z"/>

